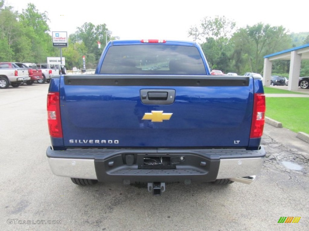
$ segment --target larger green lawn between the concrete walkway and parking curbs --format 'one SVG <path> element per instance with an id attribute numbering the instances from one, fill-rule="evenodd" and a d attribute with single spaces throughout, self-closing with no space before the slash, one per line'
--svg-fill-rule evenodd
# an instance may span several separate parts
<path id="1" fill-rule="evenodd" d="M 293 132 L 309 134 L 309 98 L 266 97 L 266 116 Z"/>

